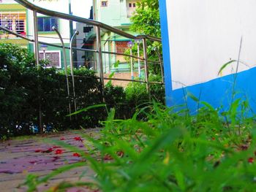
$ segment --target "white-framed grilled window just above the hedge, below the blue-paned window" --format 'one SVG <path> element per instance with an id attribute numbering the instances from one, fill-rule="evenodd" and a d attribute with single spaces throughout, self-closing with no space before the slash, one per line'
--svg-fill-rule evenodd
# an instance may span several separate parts
<path id="1" fill-rule="evenodd" d="M 39 51 L 39 60 L 49 61 L 46 67 L 61 68 L 61 51 L 60 50 L 47 50 L 45 52 Z"/>

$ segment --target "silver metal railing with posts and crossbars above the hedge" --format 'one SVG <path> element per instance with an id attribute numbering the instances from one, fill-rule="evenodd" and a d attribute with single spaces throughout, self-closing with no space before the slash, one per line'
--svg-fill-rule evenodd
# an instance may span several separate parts
<path id="1" fill-rule="evenodd" d="M 36 61 L 37 61 L 37 65 L 39 66 L 39 44 L 42 44 L 42 45 L 49 45 L 49 46 L 53 46 L 53 47 L 60 47 L 62 48 L 63 50 L 67 49 L 70 51 L 70 55 L 72 55 L 72 50 L 80 50 L 80 51 L 87 51 L 87 52 L 91 52 L 91 53 L 97 53 L 97 61 L 98 61 L 98 66 L 99 66 L 99 79 L 102 83 L 102 98 L 104 98 L 104 80 L 121 80 L 121 81 L 130 81 L 130 82 L 143 82 L 143 83 L 146 83 L 146 87 L 147 87 L 147 90 L 149 91 L 149 85 L 151 83 L 163 83 L 163 80 L 162 82 L 149 82 L 148 81 L 148 63 L 151 62 L 151 63 L 159 63 L 161 65 L 161 69 L 162 69 L 162 62 L 161 62 L 161 59 L 159 59 L 159 61 L 149 61 L 148 60 L 148 55 L 147 55 L 147 41 L 146 40 L 150 40 L 150 41 L 156 41 L 156 42 L 162 42 L 162 40 L 158 37 L 151 37 L 151 36 L 146 36 L 146 35 L 139 35 L 139 36 L 134 36 L 132 34 L 128 34 L 124 31 L 121 31 L 119 30 L 118 28 L 114 28 L 112 26 L 108 26 L 106 25 L 105 23 L 101 23 L 101 22 L 98 22 L 96 20 L 90 20 L 90 19 L 86 19 L 86 18 L 80 18 L 80 17 L 77 17 L 77 16 L 74 16 L 74 15 L 69 15 L 69 14 L 65 14 L 65 13 L 62 13 L 62 12 L 55 12 L 55 11 L 52 11 L 52 10 L 49 10 L 49 9 L 44 9 L 42 7 L 38 7 L 36 6 L 35 4 L 32 4 L 30 3 L 29 1 L 26 1 L 26 0 L 15 0 L 17 1 L 19 4 L 23 5 L 24 7 L 26 7 L 27 9 L 30 9 L 33 11 L 33 19 L 34 19 L 34 38 L 33 39 L 29 39 L 27 37 L 24 37 L 23 35 L 20 35 L 18 33 L 15 33 L 14 31 L 11 31 L 9 30 L 8 28 L 4 28 L 3 26 L 0 26 L 0 29 L 1 30 L 4 30 L 4 31 L 7 31 L 8 33 L 10 34 L 13 34 L 15 35 L 16 37 L 20 37 L 22 39 L 26 39 L 28 40 L 29 42 L 34 42 L 34 55 L 35 55 L 35 58 L 36 58 Z M 55 45 L 55 44 L 52 44 L 52 43 L 48 43 L 48 42 L 40 42 L 39 41 L 39 37 L 38 37 L 38 31 L 37 31 L 37 13 L 40 13 L 40 14 L 43 14 L 43 15 L 48 15 L 48 16 L 51 16 L 51 17 L 55 17 L 55 18 L 61 18 L 61 19 L 64 19 L 64 20 L 72 20 L 72 21 L 75 21 L 75 22 L 78 22 L 78 23 L 84 23 L 84 24 L 88 24 L 88 25 L 91 25 L 91 26 L 94 26 L 96 28 L 96 39 L 97 39 L 97 49 L 96 50 L 93 50 L 93 49 L 84 49 L 84 48 L 79 48 L 79 47 L 72 47 L 72 44 L 70 43 L 69 46 L 70 47 L 67 47 L 67 46 L 64 46 L 64 43 L 62 44 L 62 46 L 60 45 Z M 143 57 L 140 57 L 139 55 L 138 56 L 135 56 L 135 55 L 128 55 L 128 54 L 125 54 L 125 53 L 116 53 L 116 52 L 110 52 L 110 51 L 104 51 L 102 50 L 102 45 L 101 45 L 101 34 L 100 34 L 100 30 L 101 29 L 105 29 L 105 30 L 108 30 L 108 31 L 111 31 L 115 34 L 118 34 L 122 37 L 126 37 L 128 39 L 134 39 L 134 40 L 142 40 L 142 43 L 143 43 Z M 58 34 L 58 29 L 55 29 L 56 33 Z M 63 39 L 61 36 L 59 36 L 59 38 L 61 39 L 61 42 L 63 42 Z M 127 56 L 127 57 L 130 57 L 130 58 L 135 58 L 135 59 L 138 59 L 138 61 L 144 61 L 144 69 L 145 69 L 145 80 L 124 80 L 124 79 L 116 79 L 116 78 L 106 78 L 104 77 L 104 72 L 103 72 L 103 64 L 102 64 L 102 54 L 113 54 L 113 55 L 123 55 L 123 56 Z M 66 59 L 64 59 L 66 60 Z M 67 78 L 68 78 L 68 74 L 67 74 L 67 61 L 65 61 L 65 71 L 66 71 L 66 75 L 67 75 Z M 73 70 L 73 66 L 72 66 L 72 61 L 70 62 L 70 68 L 71 68 L 71 76 L 72 76 L 72 79 L 74 78 L 74 74 L 72 72 Z M 67 80 L 68 82 L 68 80 Z M 74 85 L 74 84 L 73 84 Z M 69 85 L 67 85 L 69 86 Z M 74 85 L 75 86 L 75 85 Z M 75 89 L 74 89 L 75 90 Z M 69 91 L 68 91 L 69 92 Z"/>

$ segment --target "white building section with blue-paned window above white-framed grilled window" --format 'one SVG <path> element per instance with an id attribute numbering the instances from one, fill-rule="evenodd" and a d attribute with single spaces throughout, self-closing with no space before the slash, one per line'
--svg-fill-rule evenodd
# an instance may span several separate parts
<path id="1" fill-rule="evenodd" d="M 43 7 L 45 9 L 50 9 L 56 12 L 64 12 L 69 14 L 69 0 L 61 0 L 61 1 L 40 1 L 40 0 L 30 0 L 31 3 L 36 4 L 39 7 Z M 63 20 L 59 18 L 48 17 L 47 15 L 37 14 L 38 18 L 38 36 L 39 41 L 48 42 L 51 44 L 61 45 L 61 41 L 56 34 L 56 31 L 53 31 L 52 27 L 56 26 L 59 29 L 59 33 L 61 37 L 64 39 L 64 44 L 69 46 L 69 20 Z M 29 37 L 34 36 L 33 31 L 33 12 L 28 10 L 28 26 Z M 34 44 L 32 42 L 29 43 L 29 50 L 34 50 Z M 67 52 L 67 64 L 69 64 L 69 50 Z M 64 56 L 63 50 L 58 47 L 51 47 L 46 45 L 41 45 L 39 47 L 39 59 L 46 59 L 50 61 L 49 66 L 56 66 L 57 68 L 64 67 Z"/>

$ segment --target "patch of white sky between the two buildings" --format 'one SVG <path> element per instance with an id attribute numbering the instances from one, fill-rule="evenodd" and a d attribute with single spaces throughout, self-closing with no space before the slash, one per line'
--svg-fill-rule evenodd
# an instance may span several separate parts
<path id="1" fill-rule="evenodd" d="M 90 17 L 90 9 L 92 6 L 92 0 L 71 0 L 73 15 L 82 18 Z"/>

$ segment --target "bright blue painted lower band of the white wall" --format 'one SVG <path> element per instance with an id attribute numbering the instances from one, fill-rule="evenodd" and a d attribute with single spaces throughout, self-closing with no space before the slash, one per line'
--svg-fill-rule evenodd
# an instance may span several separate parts
<path id="1" fill-rule="evenodd" d="M 230 74 L 198 85 L 170 91 L 166 96 L 167 104 L 168 106 L 175 106 L 187 103 L 190 112 L 196 112 L 197 102 L 187 97 L 189 92 L 200 101 L 208 102 L 214 108 L 222 106 L 223 110 L 227 110 L 232 102 L 233 93 L 235 93 L 234 99 L 240 98 L 249 101 L 252 112 L 256 112 L 256 88 L 253 85 L 256 82 L 255 74 L 256 68 L 252 68 L 238 74 Z"/>

